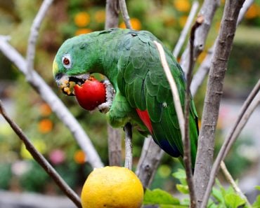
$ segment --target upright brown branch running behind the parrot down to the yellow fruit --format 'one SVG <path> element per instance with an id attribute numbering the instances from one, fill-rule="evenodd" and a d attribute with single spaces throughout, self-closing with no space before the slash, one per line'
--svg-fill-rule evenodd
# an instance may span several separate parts
<path id="1" fill-rule="evenodd" d="M 105 6 L 105 29 L 118 27 L 119 1 L 107 0 Z M 121 165 L 122 141 L 119 129 L 108 124 L 108 158 L 109 165 Z"/>

